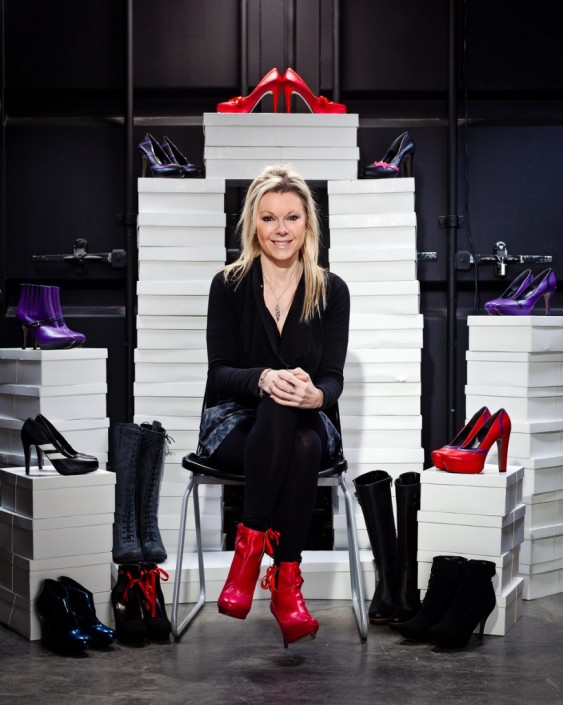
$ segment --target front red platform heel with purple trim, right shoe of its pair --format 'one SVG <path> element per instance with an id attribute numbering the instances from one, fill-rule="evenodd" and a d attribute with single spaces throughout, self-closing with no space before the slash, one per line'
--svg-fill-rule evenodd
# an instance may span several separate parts
<path id="1" fill-rule="evenodd" d="M 493 443 L 498 449 L 499 472 L 506 472 L 508 457 L 508 441 L 512 423 L 504 409 L 496 411 L 489 420 L 481 426 L 470 443 L 459 448 L 444 451 L 442 459 L 448 472 L 477 474 L 485 467 L 487 454 Z"/>

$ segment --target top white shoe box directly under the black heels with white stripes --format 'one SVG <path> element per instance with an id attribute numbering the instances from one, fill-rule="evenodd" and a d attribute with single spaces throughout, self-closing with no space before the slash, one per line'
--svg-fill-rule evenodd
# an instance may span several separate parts
<path id="1" fill-rule="evenodd" d="M 115 473 L 95 470 L 85 475 L 59 475 L 55 470 L 26 475 L 25 468 L 0 469 L 2 508 L 30 519 L 73 517 L 95 507 L 101 514 L 115 509 Z"/>

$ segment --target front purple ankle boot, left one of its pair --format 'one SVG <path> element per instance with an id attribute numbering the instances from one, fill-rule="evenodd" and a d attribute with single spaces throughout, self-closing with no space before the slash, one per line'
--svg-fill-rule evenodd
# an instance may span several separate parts
<path id="1" fill-rule="evenodd" d="M 27 348 L 27 336 L 33 337 L 33 349 L 65 350 L 76 347 L 77 341 L 55 323 L 55 313 L 49 287 L 22 284 L 16 310 L 16 320 L 22 329 L 22 350 Z"/>

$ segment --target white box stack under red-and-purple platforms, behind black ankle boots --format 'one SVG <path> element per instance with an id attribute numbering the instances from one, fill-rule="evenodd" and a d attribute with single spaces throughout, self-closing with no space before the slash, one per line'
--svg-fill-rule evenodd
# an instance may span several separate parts
<path id="1" fill-rule="evenodd" d="M 518 553 L 524 539 L 524 469 L 499 473 L 486 465 L 467 475 L 430 468 L 422 473 L 418 512 L 418 584 L 424 596 L 432 561 L 438 555 L 487 560 L 496 566 L 496 606 L 485 633 L 502 636 L 522 614 L 523 578 Z"/>

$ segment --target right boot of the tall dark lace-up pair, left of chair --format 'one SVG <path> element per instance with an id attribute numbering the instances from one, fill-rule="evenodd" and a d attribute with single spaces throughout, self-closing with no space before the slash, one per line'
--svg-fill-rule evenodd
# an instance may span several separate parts
<path id="1" fill-rule="evenodd" d="M 164 468 L 166 431 L 159 421 L 141 424 L 142 442 L 137 463 L 137 527 L 142 560 L 162 563 L 166 549 L 158 528 L 158 499 Z"/>

